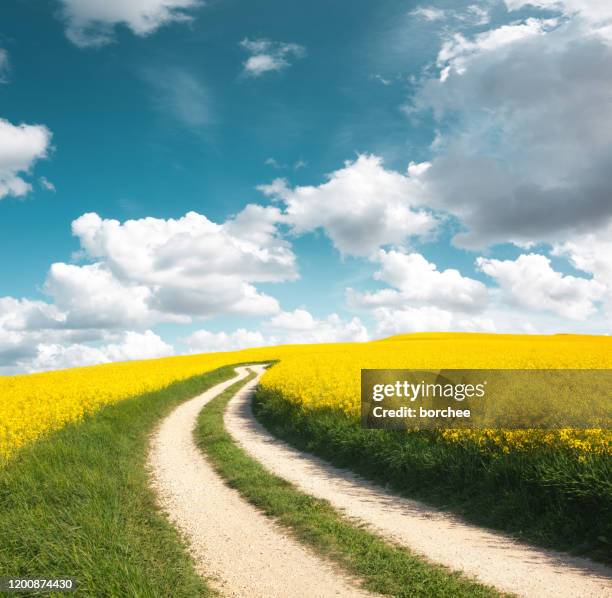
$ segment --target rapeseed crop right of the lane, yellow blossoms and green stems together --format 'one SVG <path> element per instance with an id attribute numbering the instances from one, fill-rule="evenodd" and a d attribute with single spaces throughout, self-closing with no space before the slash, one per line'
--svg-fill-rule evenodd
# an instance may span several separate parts
<path id="1" fill-rule="evenodd" d="M 260 420 L 290 443 L 409 496 L 609 561 L 610 430 L 363 430 L 359 369 L 609 368 L 612 339 L 407 335 L 270 370 Z"/>

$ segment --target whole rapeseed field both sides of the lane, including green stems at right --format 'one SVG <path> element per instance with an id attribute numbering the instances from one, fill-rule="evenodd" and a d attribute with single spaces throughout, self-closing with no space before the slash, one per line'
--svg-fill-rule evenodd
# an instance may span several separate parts
<path id="1" fill-rule="evenodd" d="M 0 378 L 0 458 L 105 405 L 218 367 L 276 361 L 257 398 L 277 434 L 399 491 L 545 545 L 609 559 L 612 432 L 388 432 L 358 422 L 361 368 L 611 368 L 612 339 L 415 334 Z M 606 523 L 607 522 L 607 523 Z"/>

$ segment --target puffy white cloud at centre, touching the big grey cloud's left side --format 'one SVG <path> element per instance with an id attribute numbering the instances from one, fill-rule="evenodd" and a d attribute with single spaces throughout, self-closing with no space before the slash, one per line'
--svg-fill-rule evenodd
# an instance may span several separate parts
<path id="1" fill-rule="evenodd" d="M 411 173 L 387 170 L 378 156 L 360 155 L 319 186 L 294 187 L 283 179 L 258 189 L 285 204 L 296 234 L 322 228 L 345 255 L 369 256 L 379 247 L 429 233 L 436 221 L 416 206 L 421 188 Z"/>

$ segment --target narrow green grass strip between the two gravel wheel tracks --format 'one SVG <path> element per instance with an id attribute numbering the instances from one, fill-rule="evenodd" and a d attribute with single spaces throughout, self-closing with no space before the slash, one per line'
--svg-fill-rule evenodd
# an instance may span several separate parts
<path id="1" fill-rule="evenodd" d="M 244 498 L 300 541 L 364 580 L 365 587 L 400 597 L 478 597 L 498 594 L 461 574 L 432 565 L 349 522 L 328 502 L 268 473 L 225 431 L 223 412 L 241 381 L 202 410 L 196 440 L 218 473 Z"/>

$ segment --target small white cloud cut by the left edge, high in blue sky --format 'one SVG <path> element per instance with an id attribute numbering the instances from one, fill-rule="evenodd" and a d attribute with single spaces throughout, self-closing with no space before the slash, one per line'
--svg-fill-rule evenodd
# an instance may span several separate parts
<path id="1" fill-rule="evenodd" d="M 51 132 L 43 125 L 13 125 L 0 119 L 0 200 L 23 197 L 32 185 L 24 179 L 37 160 L 48 156 Z"/>

